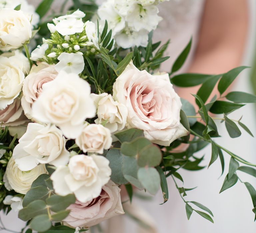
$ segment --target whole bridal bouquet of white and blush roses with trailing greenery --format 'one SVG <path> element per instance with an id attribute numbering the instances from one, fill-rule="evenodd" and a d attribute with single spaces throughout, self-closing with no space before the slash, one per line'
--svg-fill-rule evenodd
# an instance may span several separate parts
<path id="1" fill-rule="evenodd" d="M 247 67 L 177 75 L 190 40 L 162 73 L 169 41 L 152 43 L 162 1 L 74 0 L 66 15 L 50 16 L 52 0 L 36 12 L 25 0 L 0 1 L 0 201 L 27 222 L 22 232 L 84 232 L 124 214 L 122 203 L 136 189 L 154 195 L 161 188 L 165 203 L 167 177 L 188 219 L 195 212 L 213 222 L 210 209 L 186 199 L 191 189 L 179 174 L 204 168 L 204 156 L 195 153 L 209 144 L 209 166 L 219 158 L 223 170 L 223 152 L 230 158 L 220 192 L 240 180 L 239 172 L 255 176 L 255 164 L 214 141 L 216 120 L 232 138 L 241 128 L 252 135 L 228 116 L 256 102 L 254 95 L 227 91 Z M 201 85 L 192 94 L 196 110 L 173 85 Z M 210 98 L 216 85 L 219 95 Z M 256 191 L 244 184 L 256 214 Z"/>

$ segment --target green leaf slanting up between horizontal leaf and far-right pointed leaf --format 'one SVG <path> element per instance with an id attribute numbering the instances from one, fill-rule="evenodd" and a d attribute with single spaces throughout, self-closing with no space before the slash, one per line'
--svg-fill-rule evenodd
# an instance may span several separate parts
<path id="1" fill-rule="evenodd" d="M 221 75 L 214 75 L 207 79 L 205 82 L 203 82 L 202 86 L 197 92 L 197 95 L 202 99 L 202 101 L 205 103 L 209 96 L 211 95 L 216 83 L 220 79 Z M 196 104 L 201 107 L 201 104 L 198 100 L 196 100 Z"/>

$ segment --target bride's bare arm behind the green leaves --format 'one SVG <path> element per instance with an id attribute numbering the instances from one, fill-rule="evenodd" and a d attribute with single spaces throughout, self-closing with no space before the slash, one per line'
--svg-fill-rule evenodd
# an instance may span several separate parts
<path id="1" fill-rule="evenodd" d="M 221 74 L 240 65 L 248 32 L 246 0 L 206 0 L 190 73 Z M 184 89 L 183 89 L 184 90 Z M 180 96 L 191 99 L 198 87 Z"/>

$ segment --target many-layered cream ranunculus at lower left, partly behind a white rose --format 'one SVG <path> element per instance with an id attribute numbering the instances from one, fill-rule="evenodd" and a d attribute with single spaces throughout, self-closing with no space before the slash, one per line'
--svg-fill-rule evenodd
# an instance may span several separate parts
<path id="1" fill-rule="evenodd" d="M 17 193 L 26 194 L 31 188 L 31 184 L 41 174 L 46 174 L 45 164 L 36 166 L 34 169 L 24 172 L 18 168 L 13 157 L 10 158 L 3 181 L 7 190 L 14 190 Z"/>

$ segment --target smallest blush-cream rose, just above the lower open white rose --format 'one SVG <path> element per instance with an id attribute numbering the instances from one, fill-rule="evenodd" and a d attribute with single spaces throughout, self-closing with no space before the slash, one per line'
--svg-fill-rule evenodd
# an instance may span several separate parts
<path id="1" fill-rule="evenodd" d="M 112 144 L 111 132 L 101 124 L 85 124 L 82 133 L 76 138 L 76 144 L 84 153 L 103 154 Z"/>

